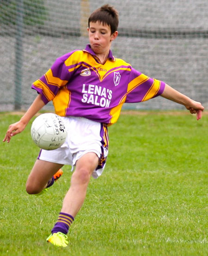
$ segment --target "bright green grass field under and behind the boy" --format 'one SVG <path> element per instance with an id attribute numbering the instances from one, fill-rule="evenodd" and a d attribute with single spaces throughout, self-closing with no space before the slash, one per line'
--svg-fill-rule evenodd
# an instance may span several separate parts
<path id="1" fill-rule="evenodd" d="M 103 175 L 92 179 L 69 230 L 69 245 L 46 238 L 71 177 L 70 166 L 48 193 L 25 192 L 39 152 L 30 125 L 0 143 L 1 256 L 208 255 L 208 115 L 123 112 L 109 128 Z M 0 137 L 20 115 L 0 114 Z"/>

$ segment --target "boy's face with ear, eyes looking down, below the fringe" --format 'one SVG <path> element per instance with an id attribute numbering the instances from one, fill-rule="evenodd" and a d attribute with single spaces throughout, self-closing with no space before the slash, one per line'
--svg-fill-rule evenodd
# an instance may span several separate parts
<path id="1" fill-rule="evenodd" d="M 103 25 L 103 23 L 100 23 L 99 21 L 90 22 L 88 32 L 90 45 L 96 54 L 108 52 L 110 50 L 111 42 L 118 34 L 116 31 L 111 35 L 110 26 Z"/>

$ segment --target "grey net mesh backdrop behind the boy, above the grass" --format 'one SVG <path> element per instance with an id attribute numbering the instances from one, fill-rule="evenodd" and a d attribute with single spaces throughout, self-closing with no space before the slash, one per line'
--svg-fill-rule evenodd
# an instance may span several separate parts
<path id="1" fill-rule="evenodd" d="M 208 105 L 208 1 L 108 0 L 119 12 L 115 57 Z M 0 1 L 0 111 L 26 109 L 31 83 L 55 59 L 88 43 L 90 13 L 102 0 Z M 134 109 L 180 109 L 161 97 Z M 51 109 L 49 103 L 44 108 Z"/>

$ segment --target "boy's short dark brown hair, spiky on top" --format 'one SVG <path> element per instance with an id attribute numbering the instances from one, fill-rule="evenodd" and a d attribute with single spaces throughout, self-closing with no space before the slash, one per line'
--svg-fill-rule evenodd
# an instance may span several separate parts
<path id="1" fill-rule="evenodd" d="M 104 5 L 95 10 L 88 19 L 88 27 L 90 27 L 90 22 L 103 23 L 110 26 L 111 35 L 118 28 L 118 12 L 113 6 Z"/>

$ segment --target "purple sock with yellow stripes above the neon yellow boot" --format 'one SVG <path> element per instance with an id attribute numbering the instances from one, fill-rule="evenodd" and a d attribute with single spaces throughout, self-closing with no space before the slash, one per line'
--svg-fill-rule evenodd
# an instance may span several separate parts
<path id="1" fill-rule="evenodd" d="M 70 225 L 73 223 L 73 220 L 74 218 L 70 214 L 60 212 L 59 218 L 56 224 L 54 225 L 53 229 L 51 230 L 51 233 L 53 234 L 53 233 L 61 232 L 67 235 Z"/>

